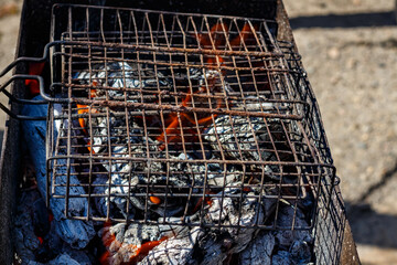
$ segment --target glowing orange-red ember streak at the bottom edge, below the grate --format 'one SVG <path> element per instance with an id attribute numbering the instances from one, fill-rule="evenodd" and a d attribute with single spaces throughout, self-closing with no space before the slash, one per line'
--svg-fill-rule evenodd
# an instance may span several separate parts
<path id="1" fill-rule="evenodd" d="M 122 244 L 122 242 L 118 242 L 116 236 L 110 233 L 110 222 L 105 222 L 104 224 L 104 234 L 103 234 L 103 243 L 107 251 L 100 256 L 99 263 L 103 265 L 111 264 L 111 254 L 112 252 L 118 252 L 120 248 L 127 250 L 128 253 L 133 253 L 129 256 L 128 262 L 122 262 L 121 264 L 137 264 L 140 261 L 142 261 L 151 250 L 153 250 L 155 246 L 160 245 L 163 241 L 168 240 L 169 237 L 163 236 L 158 241 L 149 241 L 143 244 L 141 244 L 140 247 L 137 245 L 126 245 Z M 111 248 L 111 251 L 110 251 Z"/>

